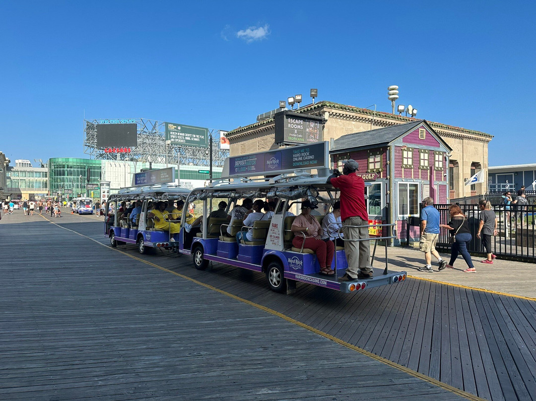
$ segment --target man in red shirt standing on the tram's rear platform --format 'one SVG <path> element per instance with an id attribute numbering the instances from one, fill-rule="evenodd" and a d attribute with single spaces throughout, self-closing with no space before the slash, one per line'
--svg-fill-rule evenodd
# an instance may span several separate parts
<path id="1" fill-rule="evenodd" d="M 368 227 L 355 227 L 368 226 L 368 212 L 364 198 L 365 182 L 355 174 L 358 169 L 359 164 L 355 160 L 343 160 L 343 175 L 335 169 L 327 179 L 333 187 L 340 189 L 340 218 L 343 220 L 344 251 L 348 268 L 344 276 L 338 278 L 339 281 L 373 277 Z"/>

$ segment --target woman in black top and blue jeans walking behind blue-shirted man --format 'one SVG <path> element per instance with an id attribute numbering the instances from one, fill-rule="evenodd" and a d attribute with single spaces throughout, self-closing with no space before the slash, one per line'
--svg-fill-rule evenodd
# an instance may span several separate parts
<path id="1" fill-rule="evenodd" d="M 449 224 L 441 225 L 441 227 L 449 229 L 450 235 L 454 237 L 452 240 L 452 247 L 450 248 L 450 262 L 448 265 L 446 265 L 446 267 L 453 269 L 456 258 L 459 254 L 461 254 L 465 260 L 465 263 L 467 263 L 467 269 L 465 269 L 464 272 L 475 273 L 477 269 L 474 268 L 471 255 L 469 255 L 469 251 L 467 250 L 467 246 L 473 239 L 469 229 L 469 220 L 465 214 L 461 212 L 461 209 L 458 205 L 450 205 L 449 214 Z"/>

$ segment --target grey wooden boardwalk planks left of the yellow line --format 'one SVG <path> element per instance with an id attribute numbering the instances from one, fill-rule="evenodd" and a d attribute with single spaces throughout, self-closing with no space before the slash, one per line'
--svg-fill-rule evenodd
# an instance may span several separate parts
<path id="1" fill-rule="evenodd" d="M 51 220 L 104 240 L 92 219 Z M 4 217 L 0 242 L 0 399 L 464 399 L 42 217 Z M 186 258 L 144 258 L 319 317 L 295 304 L 321 302 L 310 289 L 293 298 L 236 270 L 202 276 Z"/>

